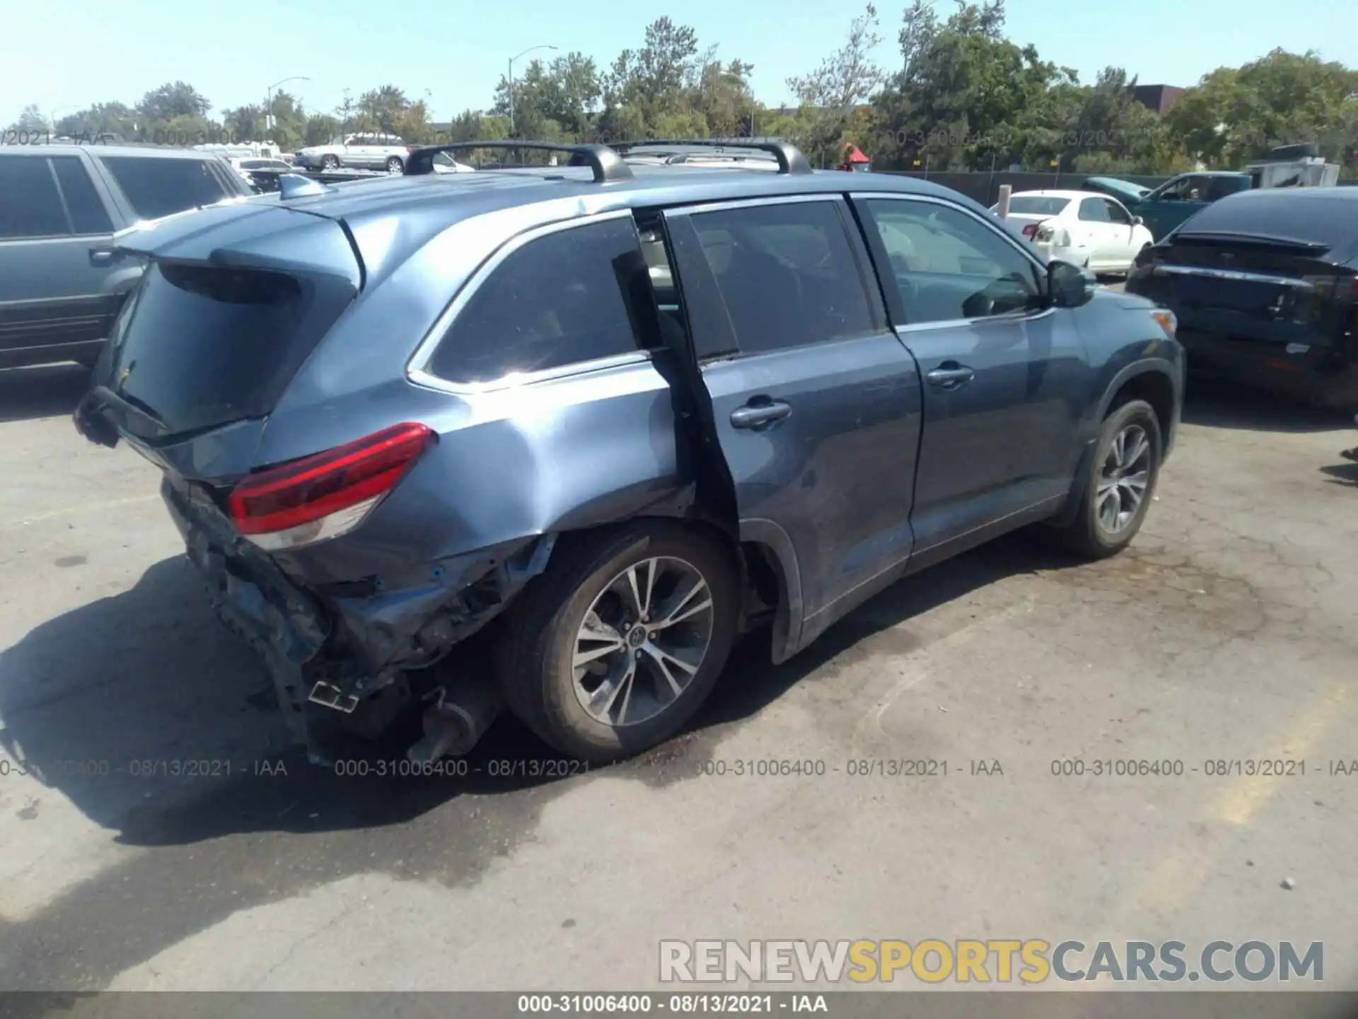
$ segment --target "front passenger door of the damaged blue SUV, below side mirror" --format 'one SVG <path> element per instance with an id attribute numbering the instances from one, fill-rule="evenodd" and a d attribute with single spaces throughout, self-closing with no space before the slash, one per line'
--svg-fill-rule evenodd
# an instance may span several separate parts
<path id="1" fill-rule="evenodd" d="M 994 221 L 856 194 L 892 323 L 923 376 L 915 565 L 1052 510 L 1070 490 L 1089 364 L 1044 269 Z"/>

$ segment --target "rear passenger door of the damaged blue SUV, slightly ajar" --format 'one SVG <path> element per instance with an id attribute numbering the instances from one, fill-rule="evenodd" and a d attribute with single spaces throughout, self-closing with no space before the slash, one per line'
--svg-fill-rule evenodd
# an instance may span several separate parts
<path id="1" fill-rule="evenodd" d="M 672 276 L 682 295 L 741 534 L 790 549 L 800 647 L 909 558 L 914 357 L 841 196 L 669 209 L 664 221 L 674 262 L 650 276 Z"/>

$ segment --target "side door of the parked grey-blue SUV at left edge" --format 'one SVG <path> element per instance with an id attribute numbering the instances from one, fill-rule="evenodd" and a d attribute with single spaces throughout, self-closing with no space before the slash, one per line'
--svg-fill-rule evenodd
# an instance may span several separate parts
<path id="1" fill-rule="evenodd" d="M 83 158 L 0 155 L 0 365 L 92 361 L 121 293 L 114 220 Z"/>

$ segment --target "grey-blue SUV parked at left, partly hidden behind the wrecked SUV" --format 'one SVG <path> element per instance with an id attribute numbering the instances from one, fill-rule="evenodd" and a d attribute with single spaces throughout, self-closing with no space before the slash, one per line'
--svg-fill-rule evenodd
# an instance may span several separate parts
<path id="1" fill-rule="evenodd" d="M 0 368 L 94 364 L 141 274 L 114 232 L 250 194 L 221 159 L 133 145 L 0 148 Z"/>

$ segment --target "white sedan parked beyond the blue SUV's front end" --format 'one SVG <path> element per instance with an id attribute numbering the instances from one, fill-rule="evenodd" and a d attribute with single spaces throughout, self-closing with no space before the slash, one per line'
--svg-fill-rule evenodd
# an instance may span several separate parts
<path id="1" fill-rule="evenodd" d="M 1017 192 L 1009 196 L 1009 221 L 1048 258 L 1099 273 L 1128 272 L 1141 249 L 1154 243 L 1139 216 L 1095 192 Z"/>

